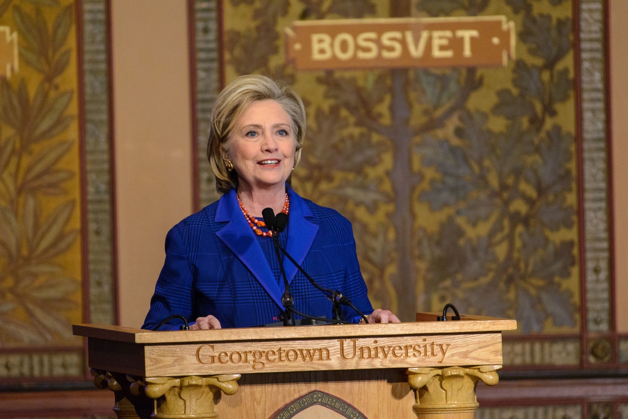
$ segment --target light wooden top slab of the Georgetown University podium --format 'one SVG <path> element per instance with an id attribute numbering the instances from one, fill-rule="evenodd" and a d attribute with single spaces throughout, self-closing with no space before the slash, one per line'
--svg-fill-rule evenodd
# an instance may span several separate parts
<path id="1" fill-rule="evenodd" d="M 116 325 L 73 325 L 73 334 L 94 339 L 134 344 L 183 342 L 234 342 L 241 340 L 325 339 L 330 337 L 386 337 L 426 334 L 465 334 L 515 330 L 516 320 L 461 315 L 460 320 L 436 321 L 439 313 L 420 313 L 419 321 L 389 324 L 308 325 L 291 327 L 247 327 L 216 330 L 153 331 Z"/>

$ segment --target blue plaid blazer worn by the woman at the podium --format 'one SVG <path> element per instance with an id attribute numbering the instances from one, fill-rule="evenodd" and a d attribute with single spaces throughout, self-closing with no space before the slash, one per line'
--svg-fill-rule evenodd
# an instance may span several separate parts
<path id="1" fill-rule="evenodd" d="M 362 313 L 371 313 L 349 220 L 336 210 L 301 198 L 290 187 L 288 195 L 286 251 L 321 286 L 342 292 Z M 332 303 L 288 258 L 283 265 L 296 310 L 329 318 Z M 277 322 L 277 315 L 284 310 L 284 283 L 278 275 L 242 216 L 236 191 L 230 190 L 168 232 L 165 263 L 142 327 L 153 329 L 174 314 L 189 322 L 212 314 L 225 328 Z M 343 310 L 347 320 L 359 321 L 354 310 Z M 181 323 L 172 320 L 161 330 L 178 329 Z"/>

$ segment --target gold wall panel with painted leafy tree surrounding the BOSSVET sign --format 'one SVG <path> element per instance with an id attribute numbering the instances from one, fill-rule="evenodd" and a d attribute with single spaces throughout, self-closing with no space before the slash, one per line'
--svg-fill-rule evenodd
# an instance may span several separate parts
<path id="1" fill-rule="evenodd" d="M 293 185 L 353 223 L 375 306 L 447 302 L 580 330 L 573 4 L 565 0 L 224 1 L 224 73 L 296 87 L 308 132 Z M 506 16 L 504 68 L 297 71 L 283 30 L 340 18 Z"/>

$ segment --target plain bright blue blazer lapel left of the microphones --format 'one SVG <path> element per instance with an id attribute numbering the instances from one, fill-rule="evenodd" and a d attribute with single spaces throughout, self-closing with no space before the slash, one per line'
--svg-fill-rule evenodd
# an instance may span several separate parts
<path id="1" fill-rule="evenodd" d="M 241 222 L 237 222 L 239 215 Z M 283 307 L 281 304 L 281 294 L 284 288 L 283 281 L 280 281 L 280 288 L 273 276 L 270 266 L 266 263 L 266 256 L 264 256 L 264 252 L 259 246 L 259 242 L 257 242 L 255 233 L 252 231 L 251 227 L 244 222 L 244 216 L 241 215 L 240 207 L 237 204 L 235 190 L 230 190 L 220 198 L 216 209 L 215 220 L 216 222 L 227 223 L 216 232 L 216 235 L 237 258 L 244 263 L 249 271 L 251 271 L 252 275 L 261 283 L 271 298 L 273 298 L 274 302 L 276 302 L 279 307 Z"/>

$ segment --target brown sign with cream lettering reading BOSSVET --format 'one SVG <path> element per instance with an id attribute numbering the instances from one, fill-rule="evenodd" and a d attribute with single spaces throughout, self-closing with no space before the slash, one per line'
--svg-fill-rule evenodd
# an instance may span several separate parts
<path id="1" fill-rule="evenodd" d="M 497 67 L 515 56 L 506 16 L 296 21 L 284 32 L 298 70 Z"/>

